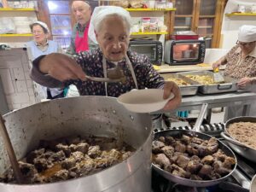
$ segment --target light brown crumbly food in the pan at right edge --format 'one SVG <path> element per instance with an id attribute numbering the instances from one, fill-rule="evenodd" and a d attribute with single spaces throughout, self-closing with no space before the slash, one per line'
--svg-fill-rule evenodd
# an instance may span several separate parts
<path id="1" fill-rule="evenodd" d="M 240 143 L 256 150 L 256 123 L 236 122 L 227 128 L 231 137 Z"/>

